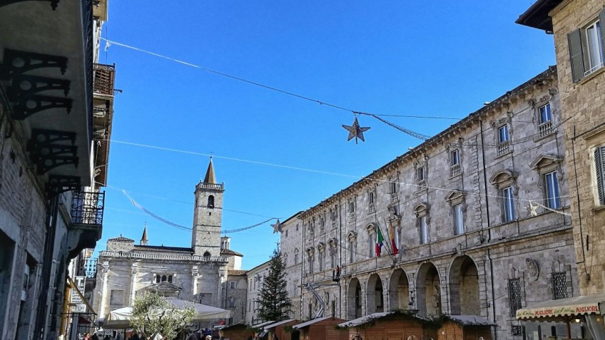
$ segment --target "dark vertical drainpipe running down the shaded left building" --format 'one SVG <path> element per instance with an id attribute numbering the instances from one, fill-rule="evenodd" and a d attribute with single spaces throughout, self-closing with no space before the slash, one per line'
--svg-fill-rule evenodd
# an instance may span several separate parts
<path id="1" fill-rule="evenodd" d="M 39 308 L 36 316 L 36 328 L 34 329 L 34 339 L 44 339 L 46 334 L 46 311 L 49 309 L 49 289 L 51 286 L 52 263 L 54 254 L 54 245 L 56 237 L 56 224 L 59 215 L 59 195 L 56 192 L 51 194 L 51 207 L 49 214 L 46 215 L 46 239 L 44 240 L 44 256 L 42 257 L 42 275 L 40 284 L 40 295 L 38 297 Z"/>

